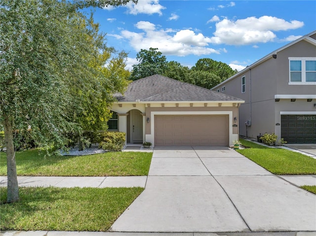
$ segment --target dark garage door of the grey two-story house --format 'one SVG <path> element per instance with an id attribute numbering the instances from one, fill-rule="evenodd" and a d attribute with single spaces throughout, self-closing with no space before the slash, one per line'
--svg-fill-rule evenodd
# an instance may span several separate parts
<path id="1" fill-rule="evenodd" d="M 316 116 L 281 115 L 281 137 L 288 143 L 316 143 Z"/>

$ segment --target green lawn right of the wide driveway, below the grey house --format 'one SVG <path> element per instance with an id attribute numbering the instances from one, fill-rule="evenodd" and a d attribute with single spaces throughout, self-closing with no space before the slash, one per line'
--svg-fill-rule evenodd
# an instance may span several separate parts
<path id="1" fill-rule="evenodd" d="M 316 159 L 280 148 L 269 148 L 240 139 L 240 154 L 275 174 L 316 174 Z"/>

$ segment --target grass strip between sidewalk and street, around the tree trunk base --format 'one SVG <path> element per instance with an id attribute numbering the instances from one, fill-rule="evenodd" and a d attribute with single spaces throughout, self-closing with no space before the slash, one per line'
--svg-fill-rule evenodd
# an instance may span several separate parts
<path id="1" fill-rule="evenodd" d="M 20 188 L 1 203 L 0 230 L 107 231 L 143 188 Z M 1 202 L 6 188 L 0 188 Z"/>

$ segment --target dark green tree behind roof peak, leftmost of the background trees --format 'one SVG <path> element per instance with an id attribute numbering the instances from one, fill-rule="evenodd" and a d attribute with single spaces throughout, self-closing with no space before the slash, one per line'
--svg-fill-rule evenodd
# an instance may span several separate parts
<path id="1" fill-rule="evenodd" d="M 153 74 L 162 75 L 166 70 L 166 57 L 158 51 L 158 48 L 150 48 L 149 50 L 141 49 L 136 56 L 139 64 L 133 65 L 130 75 L 131 80 L 141 79 Z"/>

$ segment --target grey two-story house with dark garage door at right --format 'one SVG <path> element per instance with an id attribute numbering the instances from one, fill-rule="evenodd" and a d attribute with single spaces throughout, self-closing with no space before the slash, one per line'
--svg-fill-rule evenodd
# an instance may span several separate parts
<path id="1" fill-rule="evenodd" d="M 275 133 L 316 143 L 316 31 L 277 49 L 212 88 L 244 100 L 239 134 Z"/>

